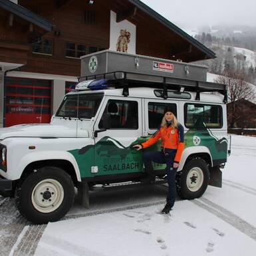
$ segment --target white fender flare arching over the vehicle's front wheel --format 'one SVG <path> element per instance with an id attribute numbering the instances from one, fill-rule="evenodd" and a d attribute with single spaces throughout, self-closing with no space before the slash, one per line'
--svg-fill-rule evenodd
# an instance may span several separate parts
<path id="1" fill-rule="evenodd" d="M 72 154 L 66 151 L 45 151 L 45 152 L 41 151 L 41 152 L 33 152 L 31 154 L 26 154 L 23 158 L 21 158 L 21 160 L 17 164 L 15 168 L 17 172 L 15 172 L 15 175 L 11 177 L 11 180 L 18 180 L 19 178 L 21 178 L 23 171 L 29 164 L 37 161 L 43 161 L 43 160 L 66 160 L 70 162 L 70 164 L 72 164 L 72 166 L 74 167 L 76 179 L 78 180 L 78 182 L 81 181 L 80 170 L 78 168 L 76 160 L 74 156 L 72 156 Z"/>

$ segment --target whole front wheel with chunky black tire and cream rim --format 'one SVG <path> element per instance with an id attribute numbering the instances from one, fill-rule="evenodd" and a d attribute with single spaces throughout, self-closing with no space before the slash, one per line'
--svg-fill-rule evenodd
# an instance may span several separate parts
<path id="1" fill-rule="evenodd" d="M 39 168 L 17 186 L 15 201 L 21 215 L 33 223 L 57 221 L 74 201 L 74 184 L 60 168 Z"/>

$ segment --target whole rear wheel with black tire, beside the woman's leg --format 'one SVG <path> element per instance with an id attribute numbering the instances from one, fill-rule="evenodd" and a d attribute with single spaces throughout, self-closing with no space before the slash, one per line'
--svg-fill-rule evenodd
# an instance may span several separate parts
<path id="1" fill-rule="evenodd" d="M 178 173 L 177 188 L 182 199 L 201 197 L 209 183 L 209 168 L 201 158 L 190 160 Z"/>

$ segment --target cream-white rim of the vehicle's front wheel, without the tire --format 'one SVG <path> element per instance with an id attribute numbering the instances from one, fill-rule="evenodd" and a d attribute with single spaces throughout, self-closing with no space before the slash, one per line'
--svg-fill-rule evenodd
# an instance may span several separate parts
<path id="1" fill-rule="evenodd" d="M 58 209 L 63 202 L 63 198 L 63 186 L 53 179 L 39 182 L 31 195 L 33 206 L 42 213 L 50 213 Z"/>

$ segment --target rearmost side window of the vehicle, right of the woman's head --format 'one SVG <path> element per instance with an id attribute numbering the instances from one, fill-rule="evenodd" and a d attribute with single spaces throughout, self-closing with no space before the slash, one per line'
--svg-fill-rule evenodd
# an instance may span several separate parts
<path id="1" fill-rule="evenodd" d="M 185 104 L 185 126 L 187 128 L 221 128 L 222 108 L 216 105 Z"/>

